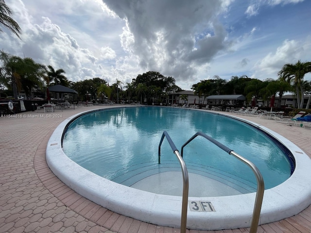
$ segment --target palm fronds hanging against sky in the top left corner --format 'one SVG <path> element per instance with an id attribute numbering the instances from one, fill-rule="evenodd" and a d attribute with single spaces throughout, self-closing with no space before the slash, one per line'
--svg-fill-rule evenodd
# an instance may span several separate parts
<path id="1" fill-rule="evenodd" d="M 20 39 L 21 29 L 17 22 L 11 18 L 12 10 L 5 4 L 4 0 L 0 0 L 0 24 L 15 33 Z M 3 31 L 0 29 L 0 32 Z"/>

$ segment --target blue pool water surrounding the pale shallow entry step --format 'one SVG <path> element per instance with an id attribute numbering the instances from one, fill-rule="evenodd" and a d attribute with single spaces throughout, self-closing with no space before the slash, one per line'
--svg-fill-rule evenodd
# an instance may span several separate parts
<path id="1" fill-rule="evenodd" d="M 266 133 L 242 121 L 190 109 L 131 107 L 96 111 L 80 116 L 68 127 L 63 150 L 74 162 L 93 173 L 131 186 L 156 173 L 179 171 L 168 142 L 158 145 L 163 131 L 177 149 L 196 132 L 206 133 L 254 163 L 265 189 L 291 176 L 288 152 Z M 188 172 L 214 179 L 241 193 L 256 191 L 248 166 L 204 138 L 197 137 L 184 149 Z"/>

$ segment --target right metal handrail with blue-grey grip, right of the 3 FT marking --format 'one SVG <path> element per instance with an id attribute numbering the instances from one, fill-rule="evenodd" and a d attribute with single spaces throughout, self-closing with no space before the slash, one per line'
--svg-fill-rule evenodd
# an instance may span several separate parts
<path id="1" fill-rule="evenodd" d="M 259 169 L 257 168 L 257 166 L 255 166 L 252 162 L 248 161 L 247 159 L 243 158 L 241 155 L 239 155 L 238 153 L 234 152 L 233 150 L 227 148 L 226 146 L 224 146 L 223 144 L 221 144 L 220 142 L 216 141 L 215 139 L 211 138 L 210 136 L 207 136 L 205 133 L 202 132 L 197 132 L 195 133 L 182 147 L 181 147 L 181 157 L 183 157 L 183 150 L 184 147 L 190 143 L 195 137 L 197 136 L 202 136 L 204 138 L 206 138 L 207 140 L 209 140 L 210 142 L 214 143 L 216 146 L 218 146 L 219 148 L 221 148 L 222 150 L 225 150 L 228 154 L 231 154 L 233 156 L 235 156 L 236 158 L 238 158 L 240 161 L 242 161 L 244 164 L 246 164 L 247 166 L 249 166 L 255 176 L 256 176 L 256 180 L 257 180 L 257 192 L 256 192 L 256 199 L 255 199 L 255 205 L 254 205 L 254 211 L 253 211 L 253 217 L 252 217 L 252 223 L 251 223 L 251 228 L 250 228 L 250 233 L 256 233 L 257 232 L 257 228 L 258 228 L 258 223 L 259 223 L 259 217 L 260 217 L 260 211 L 261 211 L 261 205 L 262 205 L 262 199 L 263 199 L 263 193 L 264 193 L 264 182 L 261 176 L 261 173 L 259 171 Z"/>

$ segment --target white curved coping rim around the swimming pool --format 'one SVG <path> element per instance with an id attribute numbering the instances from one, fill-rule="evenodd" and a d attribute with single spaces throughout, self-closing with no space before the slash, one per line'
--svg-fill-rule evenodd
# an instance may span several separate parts
<path id="1" fill-rule="evenodd" d="M 52 172 L 81 196 L 113 212 L 155 225 L 180 228 L 182 197 L 154 194 L 114 183 L 86 170 L 66 156 L 61 147 L 62 134 L 72 119 L 86 112 L 67 118 L 52 133 L 46 150 L 47 164 Z M 311 159 L 308 155 L 294 143 L 266 127 L 239 117 L 229 117 L 240 119 L 271 134 L 294 155 L 295 170 L 292 176 L 284 183 L 265 190 L 259 225 L 294 216 L 307 208 L 311 204 Z M 195 212 L 190 211 L 188 206 L 187 228 L 221 230 L 250 227 L 255 196 L 256 193 L 189 197 L 189 201 L 210 201 L 216 211 Z"/>

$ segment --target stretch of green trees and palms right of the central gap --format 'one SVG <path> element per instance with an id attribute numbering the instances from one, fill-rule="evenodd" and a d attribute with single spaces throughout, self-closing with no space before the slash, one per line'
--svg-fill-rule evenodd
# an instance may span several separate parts
<path id="1" fill-rule="evenodd" d="M 210 95 L 241 94 L 247 102 L 252 100 L 267 101 L 278 95 L 281 99 L 285 92 L 293 93 L 297 98 L 298 108 L 303 108 L 305 95 L 309 96 L 307 109 L 311 101 L 311 81 L 305 81 L 305 74 L 311 72 L 311 62 L 298 61 L 296 64 L 286 64 L 277 73 L 277 79 L 264 81 L 248 78 L 246 75 L 232 76 L 229 81 L 215 75 L 211 80 L 201 80 L 193 84 L 191 89 L 202 98 L 202 102 Z M 281 107 L 281 101 L 278 106 Z"/>

